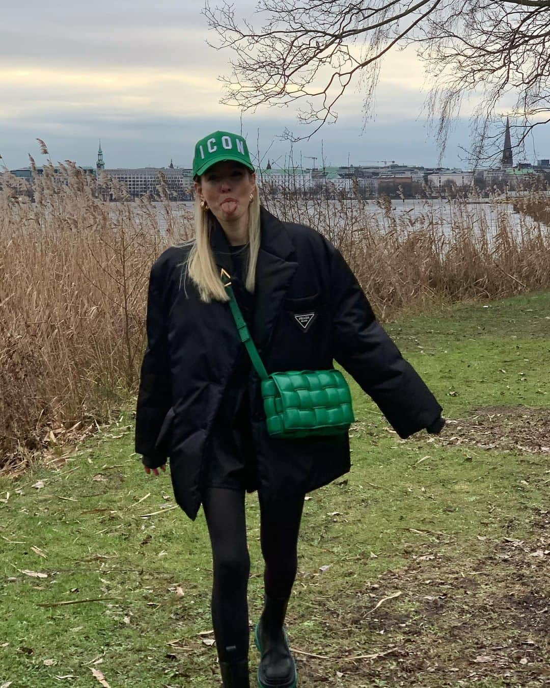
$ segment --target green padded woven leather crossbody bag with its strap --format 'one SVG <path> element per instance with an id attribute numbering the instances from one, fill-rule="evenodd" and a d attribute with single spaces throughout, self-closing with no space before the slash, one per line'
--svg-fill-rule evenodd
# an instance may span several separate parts
<path id="1" fill-rule="evenodd" d="M 221 270 L 241 341 L 261 379 L 267 432 L 273 438 L 307 438 L 346 433 L 355 421 L 351 391 L 339 370 L 288 370 L 267 374 L 243 314 L 236 303 L 231 277 Z"/>

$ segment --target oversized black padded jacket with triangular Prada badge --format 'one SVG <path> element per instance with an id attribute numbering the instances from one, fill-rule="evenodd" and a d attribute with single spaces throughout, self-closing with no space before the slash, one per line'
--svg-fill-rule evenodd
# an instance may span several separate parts
<path id="1" fill-rule="evenodd" d="M 217 223 L 210 241 L 218 267 L 231 275 L 228 241 Z M 175 499 L 195 520 L 206 442 L 243 344 L 228 303 L 203 303 L 190 279 L 180 284 L 187 251 L 168 248 L 151 268 L 135 451 L 151 468 L 170 457 Z M 262 208 L 255 294 L 251 335 L 268 373 L 327 369 L 336 360 L 401 438 L 440 429 L 441 406 L 375 320 L 340 252 L 320 233 Z M 266 498 L 306 493 L 349 471 L 347 434 L 273 439 L 253 368 L 248 385 L 259 490 Z"/>

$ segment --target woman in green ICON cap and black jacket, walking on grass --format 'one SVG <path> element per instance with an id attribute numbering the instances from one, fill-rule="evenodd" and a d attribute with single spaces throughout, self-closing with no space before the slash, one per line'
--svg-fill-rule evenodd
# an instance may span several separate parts
<path id="1" fill-rule="evenodd" d="M 221 271 L 268 373 L 320 370 L 336 359 L 401 438 L 439 432 L 441 407 L 375 320 L 340 252 L 311 228 L 259 203 L 241 136 L 216 131 L 195 146 L 195 240 L 151 268 L 148 346 L 135 451 L 158 475 L 170 456 L 177 504 L 203 505 L 212 544 L 212 623 L 223 685 L 249 686 L 245 491 L 257 490 L 265 604 L 254 640 L 260 687 L 296 686 L 283 626 L 296 577 L 305 494 L 350 469 L 347 433 L 276 439 L 260 379 L 241 343 Z"/>

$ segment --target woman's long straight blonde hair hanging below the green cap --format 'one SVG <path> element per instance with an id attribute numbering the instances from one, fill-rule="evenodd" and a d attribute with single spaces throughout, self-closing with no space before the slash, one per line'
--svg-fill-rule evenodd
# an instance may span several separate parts
<path id="1" fill-rule="evenodd" d="M 214 261 L 214 253 L 210 246 L 210 232 L 214 226 L 212 211 L 203 211 L 199 197 L 195 197 L 195 241 L 189 255 L 184 262 L 182 277 L 189 275 L 199 290 L 201 301 L 229 301 L 229 296 L 221 282 L 219 268 Z M 248 206 L 248 238 L 250 251 L 245 287 L 254 292 L 256 285 L 256 263 L 260 248 L 260 199 L 258 189 L 254 187 L 252 201 Z M 185 273 L 185 274 L 184 274 Z M 181 282 L 180 282 L 181 284 Z"/>

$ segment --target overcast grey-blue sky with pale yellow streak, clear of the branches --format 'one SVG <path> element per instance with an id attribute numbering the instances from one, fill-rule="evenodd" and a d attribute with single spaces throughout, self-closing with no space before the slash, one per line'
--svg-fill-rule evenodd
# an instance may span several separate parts
<path id="1" fill-rule="evenodd" d="M 235 0 L 250 14 L 252 0 Z M 218 76 L 230 54 L 206 44 L 203 0 L 0 0 L 0 154 L 14 169 L 28 153 L 94 165 L 101 139 L 106 167 L 190 166 L 195 141 L 210 131 L 240 131 L 239 111 L 220 105 Z M 210 36 L 210 39 L 213 37 Z M 426 128 L 423 71 L 415 55 L 393 53 L 382 67 L 376 116 L 363 129 L 358 86 L 344 96 L 335 125 L 294 148 L 294 160 L 323 153 L 326 164 L 437 164 L 439 150 Z M 467 112 L 465 113 L 467 115 Z M 243 115 L 251 151 L 283 164 L 288 128 L 299 134 L 294 111 L 262 109 Z M 259 145 L 258 145 L 259 144 Z M 468 145 L 460 120 L 443 158 L 463 166 Z M 536 146 L 533 150 L 533 145 Z M 548 158 L 550 130 L 536 132 L 527 159 Z"/>

